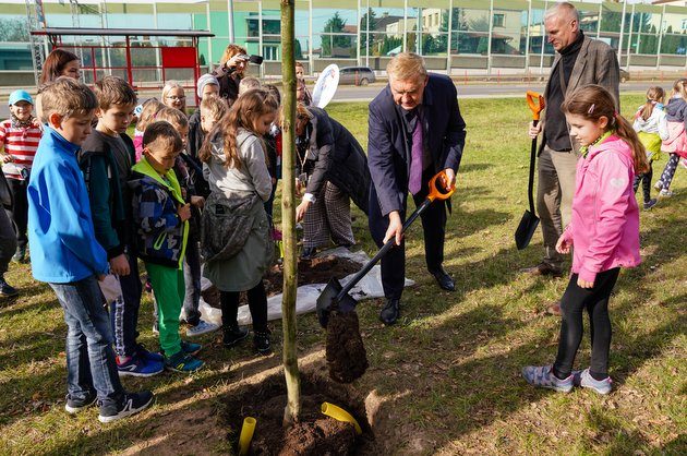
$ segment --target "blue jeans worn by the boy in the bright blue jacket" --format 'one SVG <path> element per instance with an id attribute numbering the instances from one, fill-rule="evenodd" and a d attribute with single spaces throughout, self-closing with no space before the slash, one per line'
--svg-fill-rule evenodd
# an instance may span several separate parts
<path id="1" fill-rule="evenodd" d="M 91 276 L 50 287 L 64 310 L 69 396 L 85 399 L 95 389 L 103 405 L 119 404 L 124 389 L 117 373 L 110 319 L 97 279 Z"/>

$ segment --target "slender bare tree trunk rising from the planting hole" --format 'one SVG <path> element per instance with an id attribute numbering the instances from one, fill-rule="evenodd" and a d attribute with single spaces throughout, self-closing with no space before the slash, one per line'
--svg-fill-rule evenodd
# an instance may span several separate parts
<path id="1" fill-rule="evenodd" d="M 301 380 L 296 352 L 296 292 L 298 287 L 298 247 L 296 244 L 296 56 L 293 53 L 294 0 L 281 0 L 281 76 L 284 91 L 281 229 L 284 232 L 284 375 L 287 406 L 284 423 L 298 421 L 301 411 Z"/>

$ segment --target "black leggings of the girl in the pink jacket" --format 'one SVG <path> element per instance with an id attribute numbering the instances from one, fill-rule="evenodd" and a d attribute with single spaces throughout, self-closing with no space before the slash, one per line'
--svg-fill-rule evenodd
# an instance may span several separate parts
<path id="1" fill-rule="evenodd" d="M 608 350 L 611 348 L 611 319 L 608 298 L 618 279 L 619 267 L 596 274 L 593 288 L 580 288 L 577 274 L 570 276 L 568 288 L 561 299 L 561 338 L 558 356 L 554 363 L 554 374 L 567 379 L 572 371 L 577 349 L 582 341 L 582 311 L 587 309 L 590 322 L 592 356 L 590 372 L 606 375 L 608 372 Z"/>

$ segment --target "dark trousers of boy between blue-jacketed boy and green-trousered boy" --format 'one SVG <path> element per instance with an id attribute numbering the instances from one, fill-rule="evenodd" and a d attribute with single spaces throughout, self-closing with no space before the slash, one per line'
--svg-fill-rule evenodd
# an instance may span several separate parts
<path id="1" fill-rule="evenodd" d="M 117 299 L 110 307 L 112 334 L 114 335 L 114 351 L 120 357 L 130 357 L 138 350 L 138 310 L 143 286 L 138 275 L 138 262 L 135 255 L 126 254 L 131 273 L 120 276 L 122 299 Z"/>

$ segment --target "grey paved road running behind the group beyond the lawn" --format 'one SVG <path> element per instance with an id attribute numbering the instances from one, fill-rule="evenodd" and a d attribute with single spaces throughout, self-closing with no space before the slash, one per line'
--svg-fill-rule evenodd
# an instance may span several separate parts
<path id="1" fill-rule="evenodd" d="M 637 92 L 643 93 L 652 83 L 650 82 L 628 82 L 620 84 L 620 92 Z M 663 84 L 665 88 L 668 88 L 668 84 Z M 355 87 L 352 85 L 343 85 L 338 88 L 334 96 L 334 101 L 370 101 L 374 98 L 383 88 L 384 84 L 374 84 L 365 87 Z M 470 83 L 470 84 L 456 84 L 458 88 L 458 96 L 461 98 L 497 98 L 497 97 L 519 97 L 523 96 L 527 91 L 535 91 L 543 93 L 544 84 L 540 82 L 532 82 L 531 84 L 522 83 Z M 10 109 L 7 105 L 0 106 L 0 119 L 7 119 L 10 116 Z"/>

